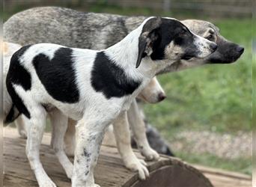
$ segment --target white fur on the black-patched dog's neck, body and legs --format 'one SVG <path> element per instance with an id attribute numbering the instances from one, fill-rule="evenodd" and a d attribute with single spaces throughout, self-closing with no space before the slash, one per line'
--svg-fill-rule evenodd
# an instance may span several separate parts
<path id="1" fill-rule="evenodd" d="M 76 72 L 76 85 L 80 93 L 79 101 L 75 104 L 60 102 L 52 98 L 41 84 L 31 63 L 34 56 L 41 52 L 52 58 L 54 52 L 62 46 L 49 43 L 36 44 L 31 46 L 20 58 L 22 66 L 31 74 L 31 89 L 25 91 L 20 85 L 15 84 L 13 84 L 13 88 L 19 97 L 22 98 L 31 114 L 30 119 L 25 117 L 25 123 L 28 123 L 26 153 L 40 186 L 55 186 L 43 170 L 39 159 L 40 141 L 43 136 L 46 120 L 46 111 L 40 103 L 51 103 L 61 110 L 63 114 L 73 118 L 73 120 L 79 120 L 76 125 L 76 150 L 72 186 L 95 186 L 93 171 L 97 163 L 100 144 L 106 127 L 112 122 L 117 124 L 127 123 L 126 112 L 134 101 L 135 96 L 145 88 L 156 73 L 175 62 L 176 59 L 152 61 L 150 57 L 146 56 L 142 58 L 141 65 L 135 69 L 138 57 L 138 37 L 141 35 L 141 29 L 147 20 L 145 19 L 138 28 L 128 34 L 121 42 L 104 50 L 106 55 L 115 61 L 116 65 L 124 68 L 129 79 L 141 82 L 141 85 L 132 94 L 127 96 L 106 99 L 103 93 L 96 92 L 91 87 L 91 69 L 97 51 L 73 49 L 73 68 Z M 209 42 L 207 41 L 202 44 L 207 46 Z M 203 52 L 203 54 L 205 56 L 210 55 L 210 51 Z M 61 117 L 61 112 L 58 114 L 59 117 Z M 65 130 L 63 127 L 61 132 L 65 132 Z M 62 134 L 64 135 L 64 133 Z M 59 142 L 59 139 L 56 138 L 52 142 Z M 58 159 L 67 175 L 70 175 L 70 164 L 66 162 L 67 159 L 63 154 L 62 148 L 63 146 L 56 147 L 58 151 L 55 152 L 58 153 Z M 59 150 L 61 150 L 61 153 L 59 153 Z M 144 171 L 144 174 L 147 176 L 146 171 Z"/>

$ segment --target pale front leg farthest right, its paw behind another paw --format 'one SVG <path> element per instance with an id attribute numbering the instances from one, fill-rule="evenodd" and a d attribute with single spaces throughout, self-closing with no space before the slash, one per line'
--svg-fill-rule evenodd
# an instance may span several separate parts
<path id="1" fill-rule="evenodd" d="M 140 150 L 141 155 L 143 155 L 147 160 L 159 159 L 159 154 L 150 147 L 150 144 L 147 141 L 144 121 L 141 119 L 138 105 L 135 100 L 132 102 L 127 114 L 129 125 L 131 126 L 138 150 Z"/>

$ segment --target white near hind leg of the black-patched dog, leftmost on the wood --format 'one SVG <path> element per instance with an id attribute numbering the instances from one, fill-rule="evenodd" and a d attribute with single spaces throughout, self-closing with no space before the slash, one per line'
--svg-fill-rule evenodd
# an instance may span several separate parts
<path id="1" fill-rule="evenodd" d="M 46 126 L 46 111 L 43 106 L 37 104 L 33 105 L 33 108 L 29 111 L 31 113 L 31 118 L 28 119 L 24 117 L 24 122 L 28 124 L 28 139 L 26 144 L 28 161 L 40 187 L 55 187 L 55 183 L 50 180 L 40 162 L 39 151 Z"/>

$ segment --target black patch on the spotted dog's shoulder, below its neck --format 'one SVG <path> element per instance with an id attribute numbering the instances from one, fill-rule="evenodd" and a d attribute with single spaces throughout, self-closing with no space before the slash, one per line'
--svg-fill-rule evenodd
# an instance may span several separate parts
<path id="1" fill-rule="evenodd" d="M 141 82 L 129 79 L 121 67 L 98 52 L 91 72 L 91 85 L 97 92 L 103 92 L 107 99 L 131 94 Z"/>

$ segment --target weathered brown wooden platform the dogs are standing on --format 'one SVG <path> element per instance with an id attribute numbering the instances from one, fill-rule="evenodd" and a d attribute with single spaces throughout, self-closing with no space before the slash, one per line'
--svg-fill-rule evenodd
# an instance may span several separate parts
<path id="1" fill-rule="evenodd" d="M 50 135 L 44 135 L 40 150 L 40 159 L 46 173 L 49 174 L 49 177 L 57 186 L 70 186 L 70 180 L 65 176 L 64 170 L 49 147 L 49 140 Z M 141 157 L 138 152 L 137 156 Z M 102 187 L 156 187 L 153 184 L 157 184 L 157 187 L 207 187 L 212 186 L 212 184 L 216 187 L 252 186 L 251 178 L 246 175 L 194 165 L 203 175 L 191 165 L 180 161 L 180 159 L 168 156 L 162 156 L 158 162 L 147 162 L 147 164 L 150 179 L 140 181 L 136 172 L 124 168 L 116 148 L 105 145 L 100 151 L 100 158 L 95 169 L 96 183 Z M 37 186 L 34 174 L 25 156 L 25 140 L 19 138 L 16 129 L 8 127 L 4 128 L 4 186 Z"/>

